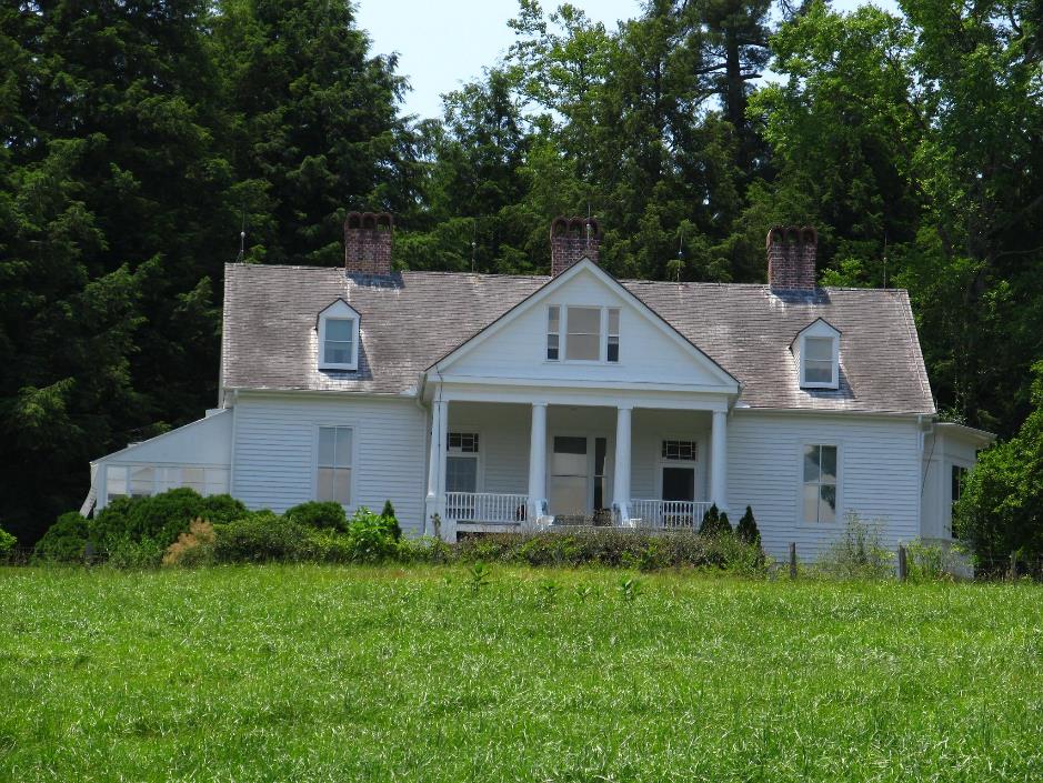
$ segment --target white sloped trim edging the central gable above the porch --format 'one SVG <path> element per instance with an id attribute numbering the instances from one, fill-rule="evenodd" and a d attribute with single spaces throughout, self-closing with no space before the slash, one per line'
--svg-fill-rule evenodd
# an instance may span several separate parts
<path id="1" fill-rule="evenodd" d="M 544 298 L 552 297 L 553 292 L 569 283 L 570 280 L 575 277 L 588 273 L 594 275 L 600 280 L 604 285 L 614 290 L 616 293 L 622 295 L 623 300 L 630 302 L 630 304 L 642 315 L 649 319 L 654 323 L 663 333 L 679 342 L 684 350 L 690 351 L 701 365 L 710 371 L 712 375 L 715 375 L 722 384 L 733 385 L 733 390 L 738 391 L 739 379 L 732 375 L 728 370 L 718 364 L 712 357 L 706 355 L 706 353 L 696 345 L 690 338 L 681 334 L 673 325 L 666 321 L 662 315 L 652 310 L 645 302 L 638 299 L 625 285 L 623 285 L 619 280 L 613 278 L 611 274 L 605 272 L 601 267 L 591 261 L 589 258 L 583 257 L 578 262 L 572 264 L 564 272 L 561 272 L 555 278 L 550 278 L 543 285 L 538 288 L 535 291 L 530 293 L 523 300 L 518 302 L 510 310 L 504 312 L 492 323 L 485 327 L 482 330 L 479 330 L 475 334 L 467 337 L 460 344 L 453 348 L 449 353 L 441 357 L 431 363 L 428 370 L 438 367 L 440 370 L 445 369 L 449 364 L 454 362 L 458 358 L 465 355 L 473 347 L 479 344 L 481 341 L 485 340 L 499 329 L 502 329 L 508 323 L 513 321 L 515 318 L 520 317 L 526 309 L 528 305 L 539 307 L 539 302 Z"/>

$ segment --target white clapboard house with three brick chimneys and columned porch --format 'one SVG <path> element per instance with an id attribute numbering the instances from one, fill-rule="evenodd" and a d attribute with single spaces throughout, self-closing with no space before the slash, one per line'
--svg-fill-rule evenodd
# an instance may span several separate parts
<path id="1" fill-rule="evenodd" d="M 848 512 L 889 544 L 950 538 L 992 436 L 935 421 L 905 291 L 815 288 L 812 229 L 771 230 L 766 285 L 615 280 L 579 219 L 550 277 L 393 273 L 391 230 L 349 215 L 345 269 L 230 264 L 219 408 L 93 462 L 97 505 L 390 499 L 453 539 L 716 503 L 775 554 L 821 552 Z"/>

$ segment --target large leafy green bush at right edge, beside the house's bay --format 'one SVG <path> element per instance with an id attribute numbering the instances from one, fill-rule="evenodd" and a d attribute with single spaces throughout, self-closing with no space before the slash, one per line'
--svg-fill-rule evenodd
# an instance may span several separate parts
<path id="1" fill-rule="evenodd" d="M 981 453 L 953 512 L 955 532 L 985 573 L 1005 569 L 1011 552 L 1043 556 L 1043 361 L 1033 371 L 1035 410 L 1015 436 Z"/>

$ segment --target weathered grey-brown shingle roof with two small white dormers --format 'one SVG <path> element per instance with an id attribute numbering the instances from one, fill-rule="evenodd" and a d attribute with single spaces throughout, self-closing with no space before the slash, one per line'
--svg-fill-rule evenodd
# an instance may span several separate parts
<path id="1" fill-rule="evenodd" d="M 229 264 L 224 388 L 411 393 L 435 360 L 550 278 L 402 272 L 349 278 L 342 269 Z M 621 281 L 743 383 L 751 408 L 933 413 L 904 291 Z M 338 297 L 362 315 L 358 372 L 318 369 L 315 319 Z M 790 343 L 824 318 L 841 332 L 840 389 L 805 391 Z"/>

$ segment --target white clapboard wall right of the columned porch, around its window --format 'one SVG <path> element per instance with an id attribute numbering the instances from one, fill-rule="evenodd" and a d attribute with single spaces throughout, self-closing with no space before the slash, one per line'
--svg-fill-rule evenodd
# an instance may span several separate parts
<path id="1" fill-rule="evenodd" d="M 801 520 L 802 446 L 839 448 L 839 508 L 835 524 Z M 909 419 L 809 414 L 764 414 L 736 409 L 728 422 L 728 500 L 738 523 L 753 508 L 764 549 L 786 556 L 796 542 L 801 560 L 824 553 L 844 528 L 844 514 L 881 520 L 881 541 L 920 535 L 920 434 Z"/>

